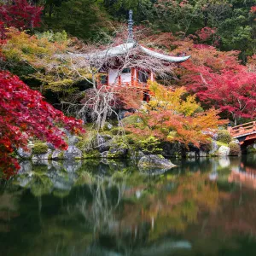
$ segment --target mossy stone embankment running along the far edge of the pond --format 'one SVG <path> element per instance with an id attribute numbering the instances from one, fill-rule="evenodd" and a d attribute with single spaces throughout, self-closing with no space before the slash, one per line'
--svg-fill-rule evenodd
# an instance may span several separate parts
<path id="1" fill-rule="evenodd" d="M 143 148 L 133 148 L 125 143 L 122 137 L 108 134 L 96 135 L 90 142 L 67 133 L 67 150 L 55 149 L 50 143 L 33 142 L 31 149 L 26 152 L 17 151 L 18 157 L 32 160 L 78 160 L 78 159 L 131 159 L 139 161 L 139 166 L 158 166 L 161 168 L 172 167 L 167 158 L 195 158 L 207 156 L 227 156 L 241 154 L 238 141 L 232 141 L 226 131 L 218 132 L 213 136 L 212 145 L 201 148 L 189 147 L 184 150 L 180 143 L 162 143 L 160 154 L 149 154 Z M 166 166 L 165 166 L 166 165 Z"/>

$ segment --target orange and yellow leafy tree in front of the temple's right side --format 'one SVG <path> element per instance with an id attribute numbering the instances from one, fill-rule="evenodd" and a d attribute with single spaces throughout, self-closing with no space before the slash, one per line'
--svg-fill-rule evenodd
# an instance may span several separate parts
<path id="1" fill-rule="evenodd" d="M 220 120 L 218 110 L 211 108 L 203 111 L 181 87 L 176 90 L 157 83 L 150 85 L 151 100 L 133 115 L 142 120 L 140 123 L 126 125 L 126 130 L 138 136 L 154 136 L 162 141 L 189 143 L 200 147 L 209 143 L 212 131 L 226 121 Z M 185 99 L 183 99 L 185 98 Z"/>

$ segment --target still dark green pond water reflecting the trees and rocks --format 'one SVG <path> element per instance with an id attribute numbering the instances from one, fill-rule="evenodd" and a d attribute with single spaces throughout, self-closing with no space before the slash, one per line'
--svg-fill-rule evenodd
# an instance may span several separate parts
<path id="1" fill-rule="evenodd" d="M 256 255 L 256 154 L 21 163 L 0 189 L 0 255 Z"/>

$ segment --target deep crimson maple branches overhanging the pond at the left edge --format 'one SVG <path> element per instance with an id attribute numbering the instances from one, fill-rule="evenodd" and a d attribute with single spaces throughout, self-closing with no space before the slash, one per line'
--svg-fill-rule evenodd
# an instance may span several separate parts
<path id="1" fill-rule="evenodd" d="M 43 96 L 31 90 L 17 76 L 0 72 L 0 171 L 7 177 L 19 167 L 12 156 L 17 148 L 27 150 L 30 137 L 66 149 L 65 134 L 60 127 L 77 133 L 84 131 L 82 121 L 67 118 L 61 111 L 44 102 Z"/>

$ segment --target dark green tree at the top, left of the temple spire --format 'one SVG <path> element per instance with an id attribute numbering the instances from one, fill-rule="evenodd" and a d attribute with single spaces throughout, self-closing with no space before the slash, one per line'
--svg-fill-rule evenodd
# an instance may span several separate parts
<path id="1" fill-rule="evenodd" d="M 54 31 L 65 30 L 68 34 L 89 39 L 99 29 L 107 27 L 108 17 L 98 1 L 68 0 L 45 3 L 44 24 Z M 45 29 L 43 26 L 43 29 Z"/>

